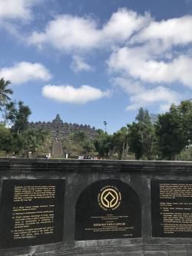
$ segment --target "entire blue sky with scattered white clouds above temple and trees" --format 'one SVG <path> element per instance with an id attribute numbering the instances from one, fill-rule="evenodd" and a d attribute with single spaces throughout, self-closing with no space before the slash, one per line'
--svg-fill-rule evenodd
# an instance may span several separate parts
<path id="1" fill-rule="evenodd" d="M 30 121 L 117 131 L 192 98 L 191 0 L 0 0 L 0 77 Z"/>

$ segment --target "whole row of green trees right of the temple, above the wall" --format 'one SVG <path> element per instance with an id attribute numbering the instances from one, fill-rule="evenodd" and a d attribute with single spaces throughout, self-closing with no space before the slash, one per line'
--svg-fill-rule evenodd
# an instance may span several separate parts
<path id="1" fill-rule="evenodd" d="M 99 131 L 94 143 L 98 155 L 105 158 L 117 153 L 118 159 L 134 154 L 135 159 L 192 160 L 191 141 L 192 101 L 186 100 L 161 115 L 140 108 L 132 124 L 114 135 Z"/>

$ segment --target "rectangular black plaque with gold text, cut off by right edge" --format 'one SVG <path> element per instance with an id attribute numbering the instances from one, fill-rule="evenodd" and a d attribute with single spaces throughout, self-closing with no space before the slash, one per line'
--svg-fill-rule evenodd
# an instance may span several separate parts
<path id="1" fill-rule="evenodd" d="M 152 235 L 192 238 L 192 181 L 151 180 Z"/>

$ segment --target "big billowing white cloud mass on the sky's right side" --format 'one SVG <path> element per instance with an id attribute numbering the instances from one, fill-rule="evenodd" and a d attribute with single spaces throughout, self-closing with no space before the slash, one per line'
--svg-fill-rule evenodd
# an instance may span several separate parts
<path id="1" fill-rule="evenodd" d="M 118 72 L 122 76 L 112 81 L 129 95 L 127 111 L 150 105 L 167 111 L 172 103 L 186 97 L 165 85 L 174 87 L 174 83 L 180 83 L 192 88 L 189 49 L 175 48 L 192 42 L 191 28 L 192 16 L 151 21 L 127 42 L 127 46 L 112 52 L 108 67 L 111 74 Z"/>

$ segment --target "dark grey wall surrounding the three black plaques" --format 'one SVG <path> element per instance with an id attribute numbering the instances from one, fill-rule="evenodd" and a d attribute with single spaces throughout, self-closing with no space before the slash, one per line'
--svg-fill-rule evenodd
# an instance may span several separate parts
<path id="1" fill-rule="evenodd" d="M 4 179 L 44 178 L 61 178 L 66 181 L 63 241 L 0 249 L 1 256 L 192 255 L 191 238 L 153 238 L 151 227 L 151 179 L 192 181 L 192 162 L 0 158 L 0 193 Z M 88 185 L 107 178 L 124 181 L 137 192 L 141 201 L 141 238 L 74 241 L 75 205 L 78 196 Z"/>

